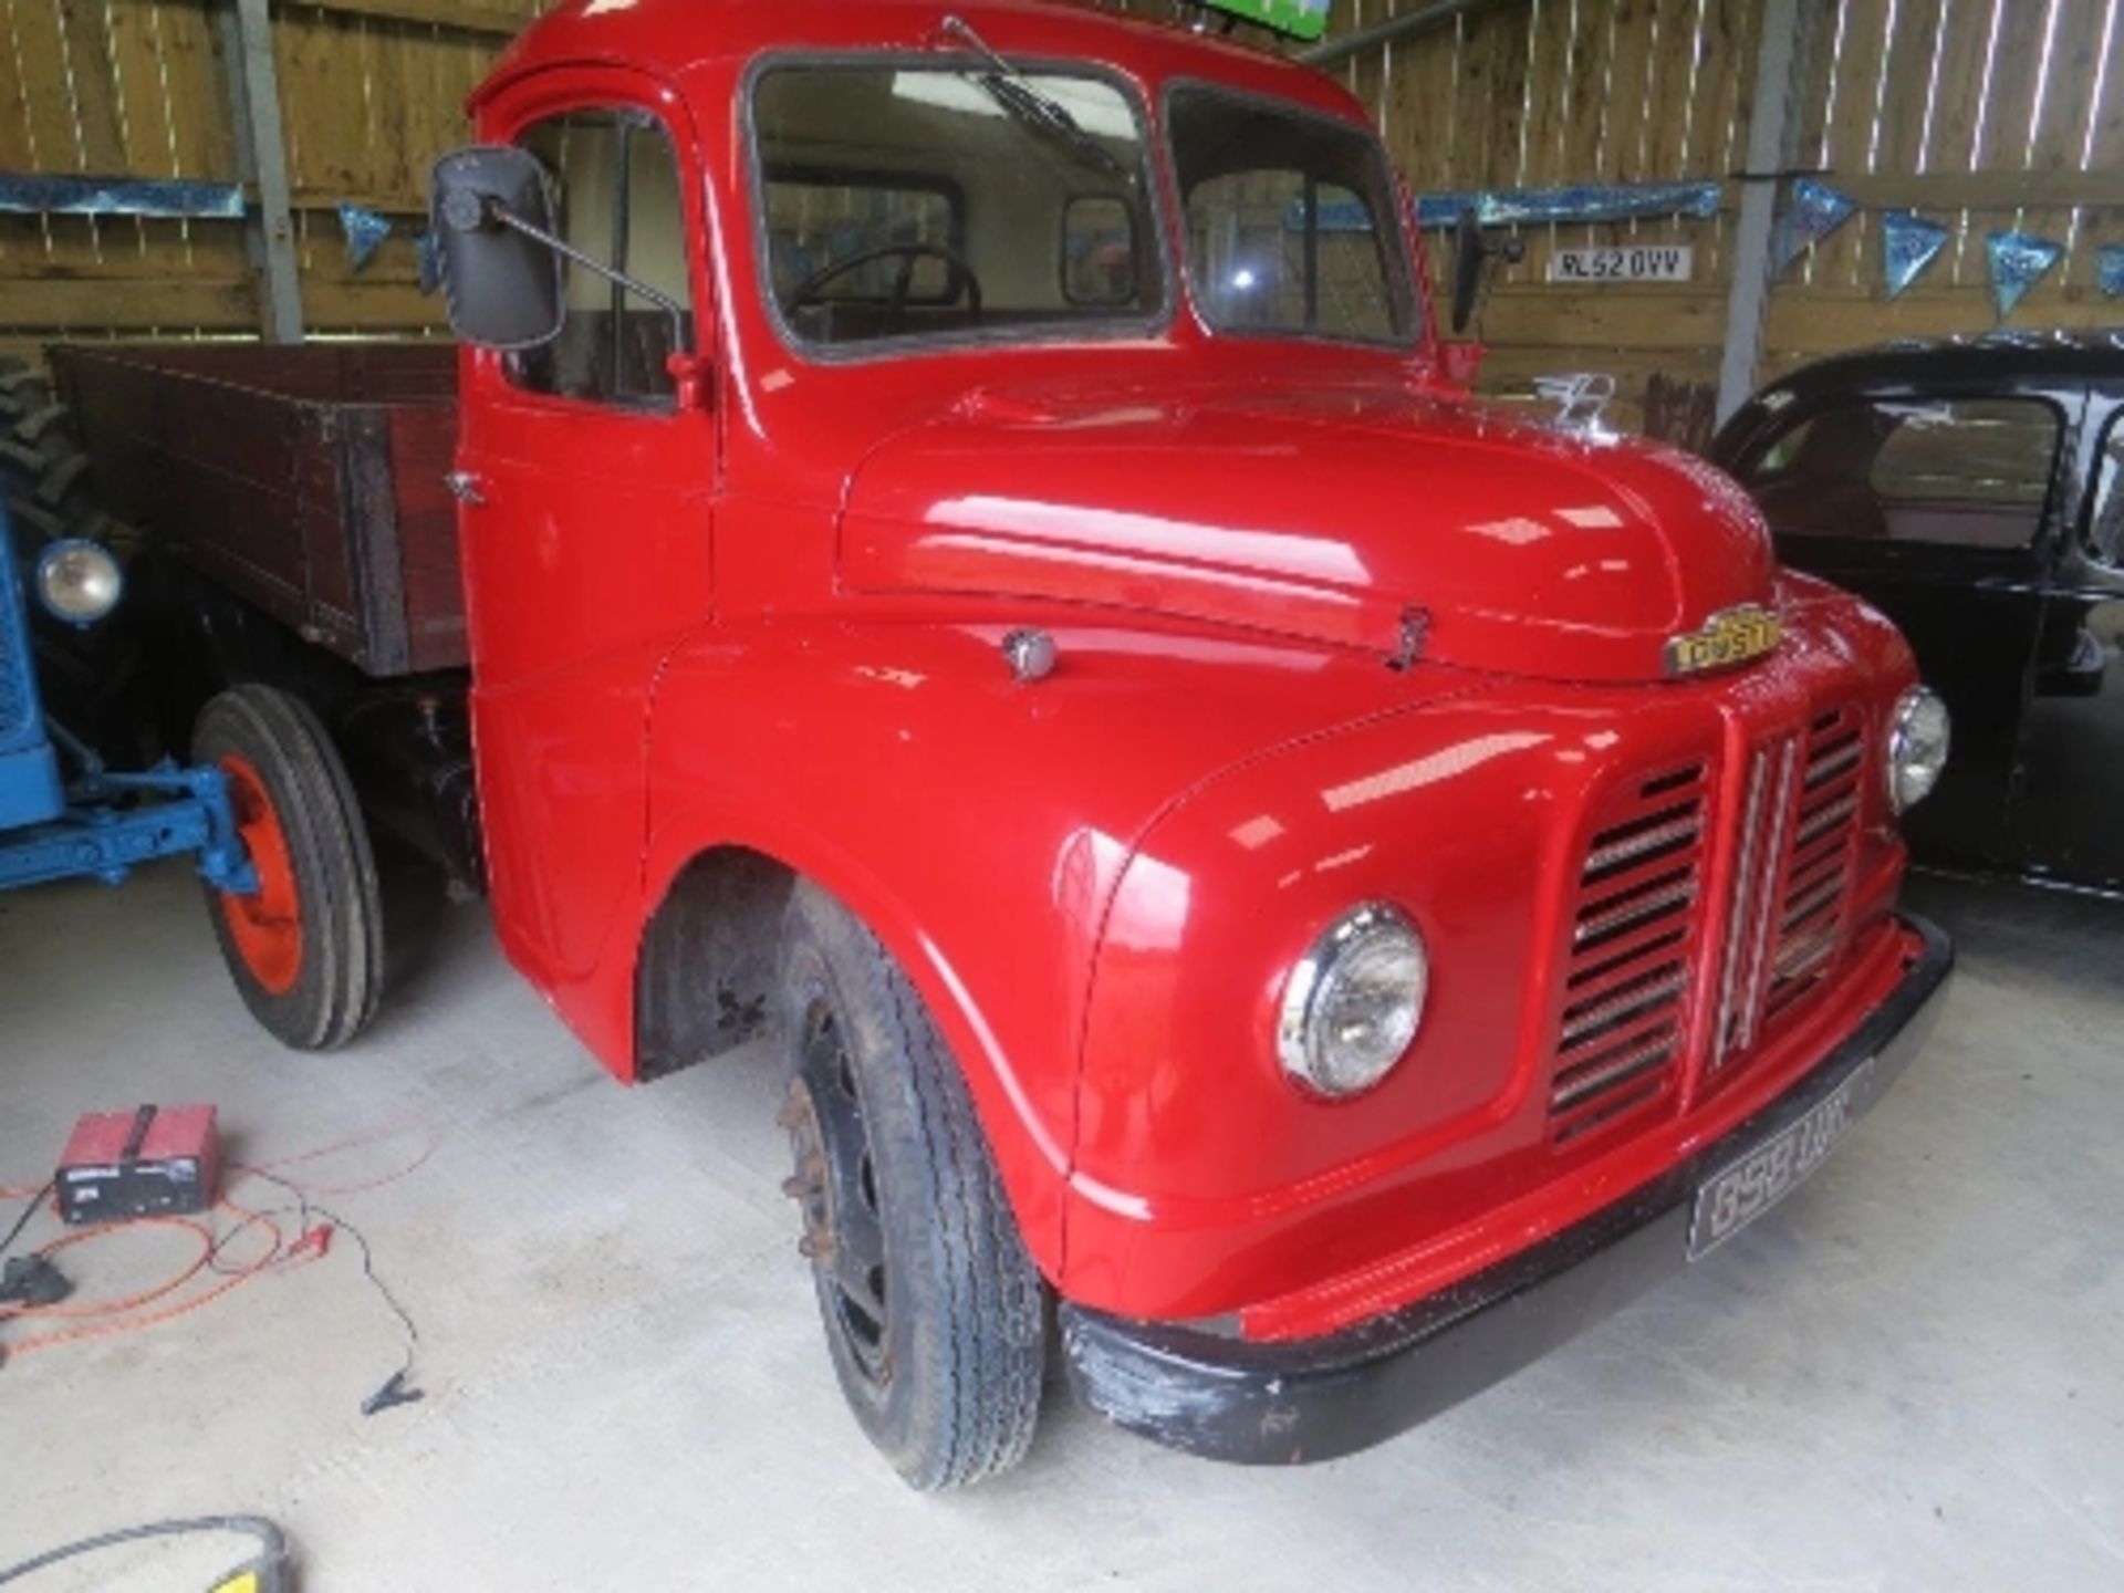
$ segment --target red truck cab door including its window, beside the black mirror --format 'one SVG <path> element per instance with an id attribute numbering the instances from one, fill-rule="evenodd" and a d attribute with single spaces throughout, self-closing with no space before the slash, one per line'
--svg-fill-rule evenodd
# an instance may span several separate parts
<path id="1" fill-rule="evenodd" d="M 682 306 L 569 263 L 556 340 L 465 357 L 461 537 L 495 918 L 573 1017 L 571 988 L 639 892 L 654 671 L 712 605 L 716 429 L 667 363 L 699 355 L 712 323 L 690 308 L 705 302 L 701 181 L 682 110 L 633 72 L 531 81 L 482 132 L 539 157 L 569 244 Z"/>

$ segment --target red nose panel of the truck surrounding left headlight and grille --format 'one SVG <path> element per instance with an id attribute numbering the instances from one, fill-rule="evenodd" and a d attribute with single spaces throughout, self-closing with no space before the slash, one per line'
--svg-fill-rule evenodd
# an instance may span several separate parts
<path id="1" fill-rule="evenodd" d="M 1844 595 L 1799 586 L 1786 616 L 1786 646 L 1746 671 L 1657 688 L 1491 680 L 1257 758 L 1160 816 L 1096 958 L 1066 1296 L 1147 1319 L 1247 1313 L 1595 1166 L 1614 1141 L 1553 1141 L 1548 1100 L 1570 915 L 1616 799 L 1701 767 L 1699 894 L 1725 901 L 1733 771 L 1767 726 L 1848 705 L 1878 748 L 1909 682 L 1895 631 Z M 1861 790 L 1854 947 L 1901 871 L 1882 782 Z M 1277 1005 L 1291 964 L 1364 901 L 1425 935 L 1425 1022 L 1376 1090 L 1323 1102 L 1281 1075 Z M 1689 977 L 1710 966 L 1693 958 Z"/>

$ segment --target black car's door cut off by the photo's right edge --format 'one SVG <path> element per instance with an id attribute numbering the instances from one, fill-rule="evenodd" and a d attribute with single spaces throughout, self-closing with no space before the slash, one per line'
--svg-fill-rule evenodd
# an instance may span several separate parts
<path id="1" fill-rule="evenodd" d="M 2014 830 L 2031 875 L 2124 890 L 2124 384 L 2090 397 L 2075 452 Z"/>

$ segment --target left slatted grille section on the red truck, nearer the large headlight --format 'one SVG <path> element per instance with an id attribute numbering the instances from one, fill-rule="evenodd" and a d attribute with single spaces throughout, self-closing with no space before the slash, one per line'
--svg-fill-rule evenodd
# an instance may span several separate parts
<path id="1" fill-rule="evenodd" d="M 1706 767 L 1631 784 L 1587 847 L 1548 1121 L 1570 1141 L 1674 1085 L 1703 901 Z"/>

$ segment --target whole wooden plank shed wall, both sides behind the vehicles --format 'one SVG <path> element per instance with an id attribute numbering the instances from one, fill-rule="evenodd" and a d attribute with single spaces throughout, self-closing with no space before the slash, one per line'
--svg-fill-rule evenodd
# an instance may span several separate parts
<path id="1" fill-rule="evenodd" d="M 236 147 L 210 4 L 0 0 L 0 170 L 232 181 Z M 1336 0 L 1330 36 L 1429 0 Z M 2094 251 L 2124 242 L 2124 0 L 1801 0 L 1795 161 L 1869 204 L 1960 229 L 1903 299 L 1880 282 L 1869 210 L 1780 280 L 1765 374 L 1901 333 L 1992 325 L 1982 234 L 2071 244 L 2011 325 L 2116 325 Z M 274 8 L 304 312 L 312 331 L 433 331 L 412 236 L 429 159 L 539 0 L 287 0 Z M 1160 0 L 1128 8 L 1155 13 Z M 1376 110 L 1415 189 L 1727 178 L 1746 147 L 1761 0 L 1491 0 L 1336 68 Z M 346 268 L 342 200 L 399 227 Z M 1525 232 L 1483 312 L 1485 384 L 1612 372 L 1625 421 L 1659 393 L 1659 429 L 1701 423 L 1716 380 L 1740 187 L 1708 221 Z M 1686 242 L 1695 280 L 1551 287 L 1557 246 Z M 1442 253 L 1434 246 L 1434 263 Z M 51 336 L 242 336 L 257 293 L 242 227 L 0 215 L 0 350 Z M 1691 404 L 1695 410 L 1691 410 Z M 1655 406 L 1657 408 L 1657 406 Z"/>

